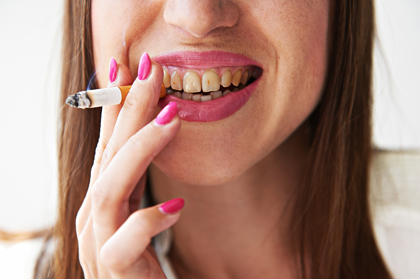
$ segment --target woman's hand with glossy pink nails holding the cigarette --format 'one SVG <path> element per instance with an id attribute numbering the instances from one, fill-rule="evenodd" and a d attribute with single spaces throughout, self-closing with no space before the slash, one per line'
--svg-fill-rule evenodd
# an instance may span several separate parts
<path id="1" fill-rule="evenodd" d="M 150 240 L 178 221 L 184 201 L 174 199 L 137 208 L 144 190 L 144 172 L 176 135 L 181 121 L 176 105 L 168 104 L 162 110 L 166 111 L 166 121 L 161 112 L 150 123 L 159 100 L 163 69 L 154 61 L 150 64 L 147 55 L 142 56 L 139 68 L 144 65 L 150 75 L 139 73 L 146 78 L 136 78 L 124 104 L 102 108 L 89 189 L 76 217 L 79 261 L 86 279 L 166 278 Z M 125 65 L 113 66 L 118 68 L 117 78 L 108 87 L 132 83 Z M 169 123 L 156 124 L 165 122 Z"/>

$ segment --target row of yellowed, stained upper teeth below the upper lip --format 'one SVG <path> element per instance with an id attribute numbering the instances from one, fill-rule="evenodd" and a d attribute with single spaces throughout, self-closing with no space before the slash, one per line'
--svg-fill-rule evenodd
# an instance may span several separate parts
<path id="1" fill-rule="evenodd" d="M 172 69 L 168 69 L 172 68 Z M 220 85 L 223 87 L 228 87 L 231 83 L 234 86 L 238 86 L 239 83 L 246 84 L 249 80 L 249 71 L 244 67 L 237 69 L 234 74 L 232 75 L 232 71 L 226 69 L 221 76 L 216 72 L 216 70 L 206 70 L 202 73 L 202 77 L 200 79 L 199 74 L 194 70 L 179 70 L 175 69 L 176 67 L 168 67 L 164 68 L 164 75 L 163 75 L 163 85 L 165 87 L 172 87 L 175 90 L 182 90 L 187 93 L 196 93 L 199 91 L 203 92 L 210 92 L 210 91 L 218 91 L 220 89 Z M 258 67 L 256 67 L 258 68 Z M 169 71 L 171 70 L 171 75 Z M 255 69 L 250 69 L 251 73 L 255 73 Z M 218 69 L 220 72 L 220 69 Z M 181 78 L 179 73 L 184 73 L 184 76 Z M 254 75 L 252 75 L 254 76 Z"/>

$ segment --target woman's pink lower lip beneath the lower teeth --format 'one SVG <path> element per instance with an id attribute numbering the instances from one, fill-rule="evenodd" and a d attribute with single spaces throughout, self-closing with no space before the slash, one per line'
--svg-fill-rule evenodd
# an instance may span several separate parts
<path id="1" fill-rule="evenodd" d="M 189 122 L 212 122 L 233 115 L 249 99 L 257 87 L 259 79 L 242 90 L 231 92 L 226 96 L 207 102 L 183 100 L 173 95 L 166 95 L 159 100 L 159 107 L 163 108 L 170 102 L 178 104 L 178 115 Z"/>

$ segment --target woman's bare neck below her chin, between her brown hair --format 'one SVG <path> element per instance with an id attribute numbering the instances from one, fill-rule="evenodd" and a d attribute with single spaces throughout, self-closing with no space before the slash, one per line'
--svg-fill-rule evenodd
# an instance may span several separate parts
<path id="1" fill-rule="evenodd" d="M 170 258 L 180 279 L 291 278 L 291 195 L 302 176 L 302 128 L 244 174 L 223 185 L 172 180 L 151 165 L 157 202 L 182 197 Z"/>

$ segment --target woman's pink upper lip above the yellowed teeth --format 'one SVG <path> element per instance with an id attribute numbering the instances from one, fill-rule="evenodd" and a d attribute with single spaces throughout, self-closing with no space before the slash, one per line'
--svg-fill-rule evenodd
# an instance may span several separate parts
<path id="1" fill-rule="evenodd" d="M 205 51 L 205 52 L 168 52 L 152 58 L 162 66 L 178 66 L 190 69 L 208 69 L 223 66 L 262 66 L 255 60 L 237 53 L 224 51 Z"/>

